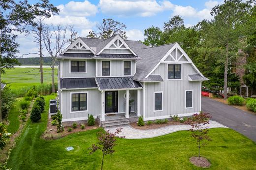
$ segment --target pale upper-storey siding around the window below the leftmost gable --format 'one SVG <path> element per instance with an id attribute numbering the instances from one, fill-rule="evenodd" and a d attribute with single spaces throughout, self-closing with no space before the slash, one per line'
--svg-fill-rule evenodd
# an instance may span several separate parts
<path id="1" fill-rule="evenodd" d="M 86 73 L 70 73 L 70 61 L 86 61 Z M 93 59 L 64 59 L 63 78 L 95 77 L 95 60 Z"/>

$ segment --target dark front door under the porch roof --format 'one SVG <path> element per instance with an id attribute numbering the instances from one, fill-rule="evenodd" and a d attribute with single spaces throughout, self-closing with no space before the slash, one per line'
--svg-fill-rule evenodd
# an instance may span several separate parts
<path id="1" fill-rule="evenodd" d="M 118 112 L 118 91 L 105 92 L 105 113 Z"/>

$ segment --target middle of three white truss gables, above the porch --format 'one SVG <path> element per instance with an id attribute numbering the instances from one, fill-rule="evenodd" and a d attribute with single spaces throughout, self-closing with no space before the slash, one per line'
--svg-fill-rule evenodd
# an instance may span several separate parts
<path id="1" fill-rule="evenodd" d="M 117 34 L 103 49 L 101 49 L 97 55 L 100 53 L 117 53 L 117 54 L 133 54 L 135 52 L 130 49 L 128 44 L 122 39 L 122 37 Z M 137 56 L 137 55 L 136 55 Z"/>

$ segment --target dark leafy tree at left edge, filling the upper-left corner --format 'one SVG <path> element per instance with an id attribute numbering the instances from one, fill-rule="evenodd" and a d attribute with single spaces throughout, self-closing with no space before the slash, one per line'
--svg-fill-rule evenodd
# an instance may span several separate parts
<path id="1" fill-rule="evenodd" d="M 27 0 L 16 2 L 15 0 L 0 1 L 0 82 L 3 68 L 12 68 L 17 63 L 15 54 L 18 52 L 18 44 L 15 42 L 17 35 L 14 31 L 25 32 L 28 25 L 36 25 L 36 16 L 50 17 L 58 13 L 58 8 L 49 3 L 49 0 L 40 0 L 30 5 Z M 1 114 L 0 91 L 0 121 Z"/>

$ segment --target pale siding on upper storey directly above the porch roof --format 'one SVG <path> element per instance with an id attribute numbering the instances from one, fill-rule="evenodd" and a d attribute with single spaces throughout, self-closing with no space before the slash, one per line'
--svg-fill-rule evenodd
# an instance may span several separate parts
<path id="1" fill-rule="evenodd" d="M 135 60 L 97 60 L 97 76 L 101 76 L 101 61 L 110 61 L 110 76 L 123 76 L 123 61 L 131 61 L 131 76 L 135 74 Z"/>

